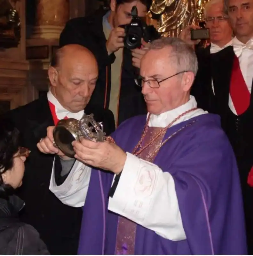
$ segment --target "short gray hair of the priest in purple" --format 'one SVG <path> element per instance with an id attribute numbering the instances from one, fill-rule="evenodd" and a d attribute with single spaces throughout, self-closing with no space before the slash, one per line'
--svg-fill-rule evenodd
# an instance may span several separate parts
<path id="1" fill-rule="evenodd" d="M 169 59 L 172 58 L 173 63 L 175 60 L 178 72 L 190 71 L 196 75 L 198 61 L 192 46 L 177 37 L 161 37 L 150 43 L 149 50 L 161 50 L 165 47 L 170 48 Z"/>

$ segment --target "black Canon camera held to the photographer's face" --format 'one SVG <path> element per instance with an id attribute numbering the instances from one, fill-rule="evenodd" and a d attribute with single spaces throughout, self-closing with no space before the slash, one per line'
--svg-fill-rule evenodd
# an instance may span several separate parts
<path id="1" fill-rule="evenodd" d="M 140 48 L 141 38 L 145 42 L 151 42 L 160 37 L 160 34 L 154 28 L 154 26 L 148 26 L 143 18 L 138 16 L 138 10 L 136 6 L 131 9 L 132 20 L 130 24 L 121 25 L 119 27 L 125 29 L 124 47 L 132 50 Z"/>

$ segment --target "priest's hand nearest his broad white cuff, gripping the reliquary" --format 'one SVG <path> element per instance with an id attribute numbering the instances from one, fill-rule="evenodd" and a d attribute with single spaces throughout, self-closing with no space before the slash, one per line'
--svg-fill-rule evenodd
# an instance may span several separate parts
<path id="1" fill-rule="evenodd" d="M 86 139 L 73 141 L 75 158 L 84 164 L 119 174 L 126 162 L 126 153 L 114 143 Z"/>

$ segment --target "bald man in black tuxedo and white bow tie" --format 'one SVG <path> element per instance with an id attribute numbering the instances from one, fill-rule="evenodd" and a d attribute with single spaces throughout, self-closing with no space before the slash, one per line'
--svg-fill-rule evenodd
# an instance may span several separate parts
<path id="1" fill-rule="evenodd" d="M 53 160 L 59 173 L 58 185 L 65 181 L 64 172 L 71 170 L 74 160 L 63 164 L 54 155 L 41 154 L 36 144 L 46 136 L 48 126 L 66 116 L 80 119 L 84 109 L 103 122 L 107 134 L 115 130 L 115 122 L 110 110 L 86 107 L 98 78 L 98 65 L 89 50 L 74 44 L 62 47 L 52 59 L 48 75 L 51 87 L 47 96 L 7 113 L 20 130 L 22 146 L 31 150 L 18 191 L 26 202 L 20 214 L 24 222 L 38 230 L 51 254 L 76 254 L 82 209 L 61 203 L 48 189 Z"/>

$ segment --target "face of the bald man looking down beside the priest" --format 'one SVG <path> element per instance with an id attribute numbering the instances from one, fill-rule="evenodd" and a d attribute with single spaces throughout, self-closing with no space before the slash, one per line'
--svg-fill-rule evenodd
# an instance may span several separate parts
<path id="1" fill-rule="evenodd" d="M 71 112 L 79 112 L 88 104 L 98 78 L 95 58 L 89 54 L 66 54 L 54 69 L 53 90 L 61 105 Z"/>

